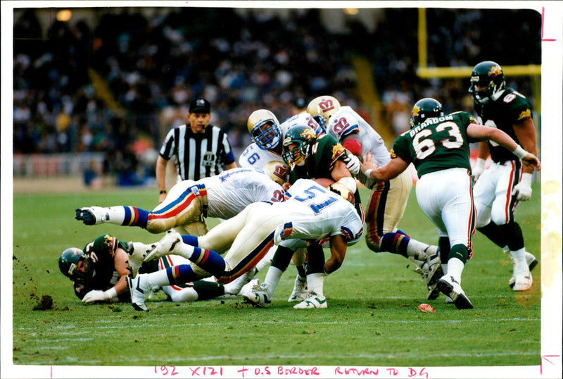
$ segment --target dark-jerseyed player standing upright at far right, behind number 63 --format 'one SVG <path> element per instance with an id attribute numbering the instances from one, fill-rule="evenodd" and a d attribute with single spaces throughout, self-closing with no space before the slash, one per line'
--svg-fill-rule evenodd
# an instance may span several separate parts
<path id="1" fill-rule="evenodd" d="M 483 125 L 498 128 L 514 141 L 537 154 L 536 127 L 531 104 L 519 92 L 507 88 L 502 68 L 492 61 L 477 64 L 471 74 L 469 93 Z M 491 166 L 485 162 L 491 154 Z M 504 251 L 514 262 L 508 285 L 514 291 L 527 291 L 532 285 L 531 269 L 538 260 L 526 251 L 520 225 L 514 220 L 519 201 L 531 198 L 533 168 L 494 142 L 479 144 L 479 158 L 473 168 L 477 230 Z"/>

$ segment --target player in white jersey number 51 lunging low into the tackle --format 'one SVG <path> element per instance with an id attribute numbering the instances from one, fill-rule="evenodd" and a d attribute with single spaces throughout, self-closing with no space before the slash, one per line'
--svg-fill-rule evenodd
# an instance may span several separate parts
<path id="1" fill-rule="evenodd" d="M 127 278 L 134 308 L 146 310 L 145 292 L 152 287 L 210 275 L 222 284 L 231 282 L 251 270 L 270 247 L 284 240 L 320 243 L 329 238 L 331 257 L 324 264 L 324 273 L 336 271 L 343 262 L 348 244 L 358 242 L 362 236 L 363 224 L 355 207 L 340 194 L 308 179 L 297 180 L 287 196 L 289 199 L 284 204 L 261 202 L 247 206 L 239 215 L 197 237 L 193 244 L 186 244 L 186 239 L 174 230 L 167 233 L 146 260 L 177 254 L 192 264 Z M 232 242 L 224 259 L 216 251 L 206 248 L 217 239 Z M 270 302 L 270 298 L 262 301 Z M 320 301 L 326 303 L 324 297 Z"/>

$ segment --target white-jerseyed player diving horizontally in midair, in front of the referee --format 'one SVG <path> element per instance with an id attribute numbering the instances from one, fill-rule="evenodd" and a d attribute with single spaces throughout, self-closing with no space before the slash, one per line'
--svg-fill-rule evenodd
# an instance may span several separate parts
<path id="1" fill-rule="evenodd" d="M 179 182 L 153 211 L 136 206 L 90 206 L 77 209 L 76 218 L 86 225 L 113 223 L 138 226 L 151 233 L 181 228 L 201 222 L 205 217 L 232 218 L 248 204 L 284 201 L 281 184 L 286 182 L 284 175 L 288 172 L 289 167 L 282 161 L 267 163 L 265 170 L 232 168 L 196 182 Z"/>

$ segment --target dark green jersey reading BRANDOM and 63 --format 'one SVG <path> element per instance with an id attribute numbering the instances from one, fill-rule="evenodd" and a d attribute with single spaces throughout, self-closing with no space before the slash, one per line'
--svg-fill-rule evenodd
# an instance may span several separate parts
<path id="1" fill-rule="evenodd" d="M 391 158 L 399 156 L 407 163 L 412 162 L 419 178 L 426 173 L 454 167 L 467 168 L 471 172 L 467 140 L 467 125 L 471 123 L 476 120 L 467 112 L 426 118 L 424 123 L 395 139 Z"/>

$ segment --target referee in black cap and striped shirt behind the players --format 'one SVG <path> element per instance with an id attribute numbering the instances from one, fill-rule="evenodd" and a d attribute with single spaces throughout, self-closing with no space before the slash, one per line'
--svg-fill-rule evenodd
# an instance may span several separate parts
<path id="1" fill-rule="evenodd" d="M 209 101 L 193 99 L 187 117 L 188 123 L 170 130 L 160 148 L 156 161 L 158 204 L 166 198 L 166 165 L 172 156 L 176 156 L 179 180 L 200 180 L 236 167 L 227 133 L 209 123 Z"/>

